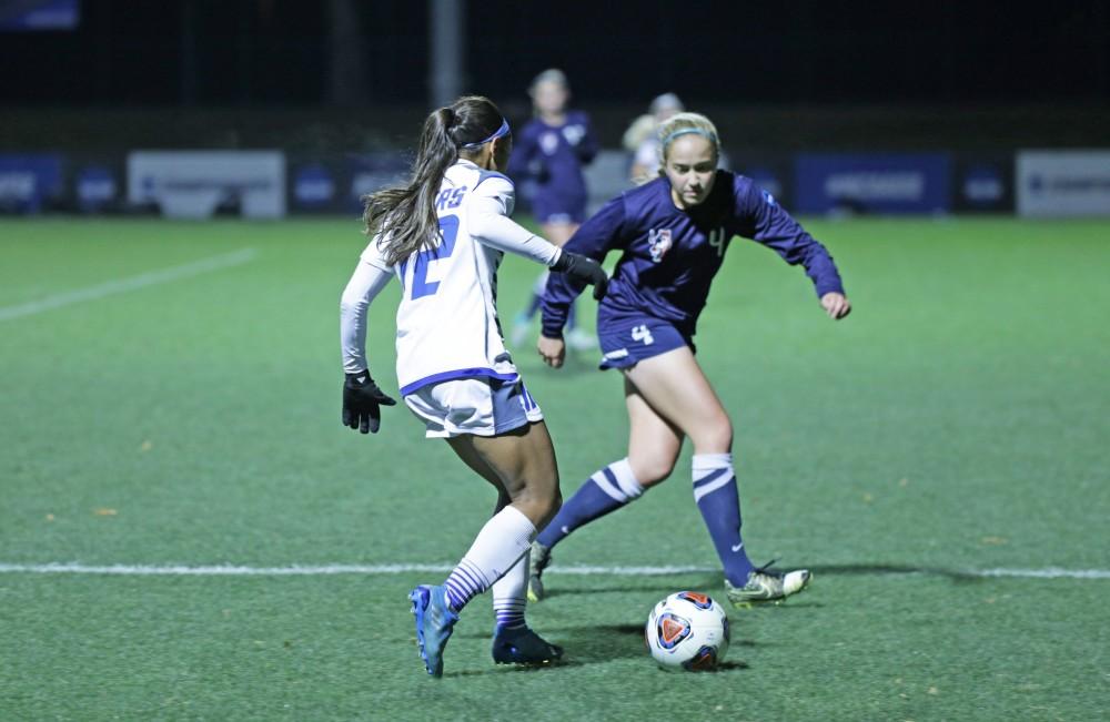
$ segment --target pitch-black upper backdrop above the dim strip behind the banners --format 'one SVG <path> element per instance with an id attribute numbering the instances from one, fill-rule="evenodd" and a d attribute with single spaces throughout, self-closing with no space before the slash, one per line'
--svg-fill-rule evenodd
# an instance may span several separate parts
<path id="1" fill-rule="evenodd" d="M 72 32 L 0 34 L 0 99 L 52 105 L 327 103 L 334 33 L 356 30 L 365 103 L 427 95 L 421 0 L 84 0 Z M 339 27 L 336 27 L 339 26 Z M 521 94 L 566 70 L 582 103 L 1110 99 L 1096 0 L 509 2 L 466 6 L 468 85 Z"/>

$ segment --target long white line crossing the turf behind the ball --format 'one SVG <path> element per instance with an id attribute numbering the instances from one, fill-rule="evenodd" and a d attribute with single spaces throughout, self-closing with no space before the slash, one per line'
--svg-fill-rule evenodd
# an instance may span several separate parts
<path id="1" fill-rule="evenodd" d="M 402 574 L 411 572 L 447 573 L 451 565 L 293 565 L 290 567 L 244 567 L 220 565 L 208 567 L 71 563 L 10 565 L 0 563 L 0 573 L 38 574 L 115 574 L 122 577 L 322 577 L 329 574 Z M 584 577 L 659 577 L 666 574 L 712 573 L 715 567 L 557 567 L 548 573 Z M 912 572 L 907 572 L 912 573 Z M 1017 579 L 1110 579 L 1110 569 L 968 569 L 960 573 L 983 578 Z"/>

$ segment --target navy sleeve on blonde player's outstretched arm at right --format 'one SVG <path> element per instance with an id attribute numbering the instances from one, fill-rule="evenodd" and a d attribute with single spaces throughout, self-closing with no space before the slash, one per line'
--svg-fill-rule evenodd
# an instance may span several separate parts
<path id="1" fill-rule="evenodd" d="M 814 282 L 817 296 L 844 293 L 844 284 L 833 256 L 809 235 L 790 214 L 775 201 L 770 193 L 759 189 L 749 179 L 736 179 L 736 213 L 749 225 L 749 233 L 741 233 L 763 245 L 774 248 L 791 266 L 801 264 Z"/>

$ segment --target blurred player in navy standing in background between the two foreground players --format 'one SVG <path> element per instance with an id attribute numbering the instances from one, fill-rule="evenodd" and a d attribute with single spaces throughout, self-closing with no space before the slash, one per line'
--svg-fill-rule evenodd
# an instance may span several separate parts
<path id="1" fill-rule="evenodd" d="M 562 246 L 586 217 L 586 179 L 582 167 L 597 155 L 597 139 L 589 118 L 582 111 L 567 110 L 571 87 L 561 70 L 545 70 L 528 87 L 534 118 L 517 134 L 516 148 L 508 163 L 514 179 L 533 181 L 532 212 L 544 237 Z M 513 323 L 513 345 L 528 338 L 528 325 L 539 311 L 539 298 L 547 283 L 541 274 L 527 307 Z M 593 348 L 594 337 L 577 327 L 574 307 L 567 321 L 567 344 L 572 348 Z"/>

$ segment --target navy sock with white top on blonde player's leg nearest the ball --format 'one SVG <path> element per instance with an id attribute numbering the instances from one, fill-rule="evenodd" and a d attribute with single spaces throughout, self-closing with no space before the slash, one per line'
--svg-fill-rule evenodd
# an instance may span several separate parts
<path id="1" fill-rule="evenodd" d="M 740 497 L 731 454 L 694 455 L 694 500 L 725 568 L 725 578 L 734 587 L 743 587 L 755 566 L 740 538 Z"/>

